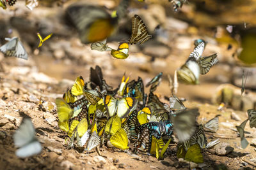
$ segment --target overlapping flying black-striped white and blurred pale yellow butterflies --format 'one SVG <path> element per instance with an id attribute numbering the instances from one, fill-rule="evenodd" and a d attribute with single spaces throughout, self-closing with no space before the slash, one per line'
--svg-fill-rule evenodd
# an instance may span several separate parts
<path id="1" fill-rule="evenodd" d="M 177 69 L 177 76 L 180 82 L 196 85 L 199 83 L 199 75 L 206 74 L 210 68 L 218 63 L 217 53 L 208 57 L 202 57 L 206 42 L 203 39 L 196 39 L 195 49 L 190 53 L 185 64 Z"/>

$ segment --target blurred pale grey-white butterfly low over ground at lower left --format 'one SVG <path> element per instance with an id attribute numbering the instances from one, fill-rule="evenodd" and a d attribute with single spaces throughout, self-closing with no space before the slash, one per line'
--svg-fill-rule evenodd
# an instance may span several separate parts
<path id="1" fill-rule="evenodd" d="M 19 129 L 13 134 L 13 141 L 16 147 L 17 157 L 25 158 L 41 152 L 42 146 L 35 137 L 35 128 L 30 118 L 24 118 Z"/>

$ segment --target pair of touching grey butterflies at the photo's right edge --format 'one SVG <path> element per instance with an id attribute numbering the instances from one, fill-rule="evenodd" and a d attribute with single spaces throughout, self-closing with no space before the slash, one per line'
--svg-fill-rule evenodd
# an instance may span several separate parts
<path id="1" fill-rule="evenodd" d="M 244 122 L 242 122 L 241 125 L 236 126 L 237 131 L 239 132 L 240 138 L 241 138 L 241 146 L 242 148 L 246 148 L 248 146 L 248 141 L 246 140 L 246 138 L 244 137 L 244 127 L 246 125 L 246 123 L 248 122 L 248 120 L 250 121 L 250 128 L 256 127 L 256 110 L 248 110 L 248 118 L 246 120 L 244 120 Z"/>

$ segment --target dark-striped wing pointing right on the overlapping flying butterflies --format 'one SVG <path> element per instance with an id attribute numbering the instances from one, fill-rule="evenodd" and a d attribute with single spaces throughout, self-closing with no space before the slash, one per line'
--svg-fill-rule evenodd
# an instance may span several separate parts
<path id="1" fill-rule="evenodd" d="M 206 74 L 210 71 L 210 68 L 218 62 L 216 57 L 217 53 L 214 53 L 208 57 L 200 58 L 197 61 L 198 65 L 200 66 L 200 74 Z"/>

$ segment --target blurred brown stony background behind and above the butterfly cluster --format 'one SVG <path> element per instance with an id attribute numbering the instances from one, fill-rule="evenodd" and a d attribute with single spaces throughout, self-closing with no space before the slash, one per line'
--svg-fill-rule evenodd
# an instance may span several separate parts
<path id="1" fill-rule="evenodd" d="M 81 43 L 76 29 L 65 17 L 65 9 L 74 2 L 38 0 L 39 6 L 31 11 L 24 5 L 25 1 L 17 1 L 14 6 L 1 9 L 0 45 L 6 43 L 4 38 L 18 36 L 29 59 L 4 58 L 0 53 L 0 71 L 23 75 L 43 73 L 54 78 L 50 80 L 52 82 L 63 79 L 74 81 L 79 75 L 89 80 L 90 67 L 99 65 L 104 78 L 113 87 L 120 83 L 124 72 L 131 76 L 130 80 L 141 76 L 147 83 L 162 71 L 163 81 L 157 93 L 170 96 L 167 75 L 173 78 L 175 69 L 182 66 L 193 51 L 194 40 L 202 38 L 207 41 L 203 56 L 218 53 L 220 62 L 209 73 L 200 75 L 200 85 L 179 83 L 178 96 L 201 103 L 220 104 L 225 98 L 221 97 L 221 89 L 225 88 L 223 84 L 228 83 L 232 96 L 237 94 L 239 99 L 233 104 L 227 99 L 225 103 L 237 106 L 237 110 L 255 108 L 255 0 L 186 1 L 177 11 L 173 10 L 173 4 L 168 0 L 132 0 L 127 17 L 119 22 L 116 34 L 108 39 L 108 45 L 116 49 L 118 41 L 129 38 L 134 14 L 143 18 L 152 39 L 143 45 L 129 46 L 129 57 L 125 60 L 115 59 L 109 52 L 91 50 L 90 44 Z M 108 11 L 115 10 L 120 3 L 118 0 L 83 2 L 104 6 Z M 36 32 L 40 32 L 43 38 L 51 33 L 53 35 L 37 48 L 39 38 Z M 243 69 L 245 73 L 248 71 L 248 78 L 246 94 L 241 97 Z M 44 79 L 44 76 L 36 77 Z M 63 89 L 56 89 L 56 93 L 63 93 Z M 244 106 L 248 103 L 249 106 Z"/>

